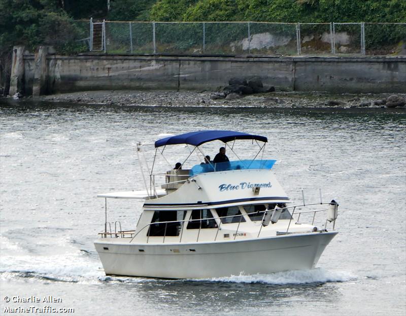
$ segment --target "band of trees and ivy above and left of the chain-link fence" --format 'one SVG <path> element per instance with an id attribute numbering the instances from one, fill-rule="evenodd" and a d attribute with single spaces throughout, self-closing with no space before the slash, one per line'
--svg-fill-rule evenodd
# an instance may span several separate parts
<path id="1" fill-rule="evenodd" d="M 110 10 L 107 10 L 108 3 Z M 0 0 L 0 54 L 17 44 L 83 50 L 88 24 L 120 21 L 405 22 L 404 0 Z M 381 39 L 380 39 L 381 40 Z"/>

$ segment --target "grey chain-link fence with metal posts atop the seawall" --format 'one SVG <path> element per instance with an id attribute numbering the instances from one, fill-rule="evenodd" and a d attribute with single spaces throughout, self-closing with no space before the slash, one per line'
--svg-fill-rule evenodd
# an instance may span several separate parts
<path id="1" fill-rule="evenodd" d="M 103 27 L 93 27 L 96 24 L 90 21 L 90 42 L 101 46 L 90 43 L 90 51 L 108 54 L 406 55 L 406 23 L 103 21 L 98 23 Z"/>

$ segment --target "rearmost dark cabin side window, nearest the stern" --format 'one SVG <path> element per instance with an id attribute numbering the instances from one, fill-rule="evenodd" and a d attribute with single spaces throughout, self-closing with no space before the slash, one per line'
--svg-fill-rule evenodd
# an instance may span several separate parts
<path id="1" fill-rule="evenodd" d="M 152 216 L 151 224 L 148 230 L 148 236 L 179 236 L 182 228 L 182 222 L 178 220 L 185 219 L 186 211 L 155 211 Z"/>

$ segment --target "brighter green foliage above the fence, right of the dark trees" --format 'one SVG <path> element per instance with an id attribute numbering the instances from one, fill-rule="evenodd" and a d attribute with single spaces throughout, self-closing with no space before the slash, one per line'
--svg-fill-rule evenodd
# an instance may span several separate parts
<path id="1" fill-rule="evenodd" d="M 155 21 L 406 22 L 404 0 L 160 0 Z"/>

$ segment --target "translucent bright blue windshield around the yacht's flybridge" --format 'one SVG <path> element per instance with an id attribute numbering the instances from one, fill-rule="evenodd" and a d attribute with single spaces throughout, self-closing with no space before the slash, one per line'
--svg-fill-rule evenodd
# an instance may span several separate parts
<path id="1" fill-rule="evenodd" d="M 225 163 L 210 163 L 195 165 L 190 170 L 189 175 L 193 176 L 199 173 L 228 171 L 228 170 L 247 170 L 247 169 L 272 169 L 276 160 L 239 160 Z"/>

